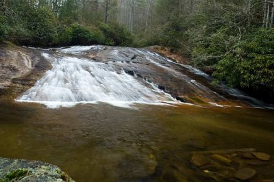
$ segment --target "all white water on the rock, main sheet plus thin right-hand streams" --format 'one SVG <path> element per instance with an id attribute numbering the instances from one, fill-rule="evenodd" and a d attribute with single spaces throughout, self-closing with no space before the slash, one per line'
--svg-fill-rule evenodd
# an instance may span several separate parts
<path id="1" fill-rule="evenodd" d="M 127 51 L 119 51 L 119 49 L 110 49 L 104 52 L 103 50 L 108 47 L 97 46 L 75 46 L 66 49 L 60 48 L 58 50 L 63 55 L 55 54 L 52 57 L 49 54 L 43 53 L 45 59 L 49 60 L 53 65 L 53 68 L 45 74 L 42 79 L 37 81 L 36 85 L 27 90 L 16 101 L 20 102 L 32 102 L 42 103 L 50 108 L 58 107 L 72 107 L 78 103 L 109 103 L 119 107 L 133 107 L 135 103 L 145 103 L 153 105 L 166 105 L 169 103 L 180 103 L 174 99 L 170 94 L 164 93 L 158 89 L 155 83 L 149 83 L 143 79 L 128 75 L 123 70 L 123 66 L 113 66 L 115 64 L 125 64 L 125 60 L 129 59 L 133 55 L 143 57 L 144 60 L 168 70 L 173 76 L 187 81 L 188 86 L 195 86 L 203 93 L 211 93 L 212 90 L 198 83 L 194 79 L 180 73 L 172 66 L 161 64 L 164 60 L 166 62 L 172 62 L 168 58 L 162 57 L 157 53 L 142 49 L 127 49 Z M 49 49 L 51 50 L 51 49 Z M 102 51 L 101 59 L 108 61 L 108 64 L 102 62 L 95 62 L 92 59 L 84 58 L 82 54 L 90 50 Z M 97 51 L 95 51 L 97 52 Z M 66 55 L 66 56 L 65 56 Z M 78 58 L 77 58 L 78 57 Z M 82 58 L 79 58 L 82 57 Z M 87 60 L 88 59 L 88 60 Z M 127 64 L 132 63 L 130 60 Z M 178 64 L 172 62 L 173 64 Z M 191 66 L 178 64 L 184 66 L 191 73 L 206 77 L 208 80 L 212 80 L 209 75 L 201 72 Z M 125 66 L 125 68 L 127 68 Z M 129 66 L 130 68 L 130 66 Z M 115 69 L 115 70 L 114 70 Z M 189 85 L 190 84 L 190 85 Z M 249 103 L 255 103 L 255 105 L 262 105 L 256 99 L 253 99 L 245 94 L 241 94 L 238 90 L 229 89 L 224 85 L 221 85 L 224 90 L 229 94 L 239 97 L 240 99 L 247 100 Z M 213 92 L 219 98 L 225 99 L 223 96 Z M 210 102 L 210 105 L 219 106 L 216 103 Z M 226 107 L 227 105 L 223 105 Z"/>

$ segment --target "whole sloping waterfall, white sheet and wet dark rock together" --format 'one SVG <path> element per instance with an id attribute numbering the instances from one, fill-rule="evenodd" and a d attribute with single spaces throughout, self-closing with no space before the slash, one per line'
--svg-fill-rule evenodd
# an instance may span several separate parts
<path id="1" fill-rule="evenodd" d="M 51 108 L 99 102 L 120 107 L 181 103 L 177 99 L 225 107 L 239 103 L 268 107 L 223 84 L 212 86 L 212 77 L 201 70 L 145 49 L 92 45 L 40 51 L 52 69 L 16 101 Z"/>

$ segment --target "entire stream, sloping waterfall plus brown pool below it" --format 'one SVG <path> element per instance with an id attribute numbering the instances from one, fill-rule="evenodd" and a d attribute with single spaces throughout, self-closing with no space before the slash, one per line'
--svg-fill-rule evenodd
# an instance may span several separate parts
<path id="1" fill-rule="evenodd" d="M 51 70 L 0 99 L 1 157 L 54 164 L 75 181 L 212 181 L 193 152 L 274 155 L 273 109 L 191 66 L 121 47 L 41 53 Z"/>

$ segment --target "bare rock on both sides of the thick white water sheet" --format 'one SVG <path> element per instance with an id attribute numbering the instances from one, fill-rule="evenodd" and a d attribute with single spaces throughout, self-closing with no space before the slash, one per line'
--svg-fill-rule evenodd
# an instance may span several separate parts
<path id="1" fill-rule="evenodd" d="M 191 66 L 178 64 L 146 49 L 127 47 L 69 47 L 66 49 L 27 49 L 0 44 L 0 96 L 15 98 L 34 86 L 37 79 L 51 68 L 50 60 L 42 56 L 78 57 L 100 62 L 108 69 L 122 70 L 144 85 L 152 84 L 171 94 L 178 101 L 197 105 L 264 105 L 238 90 L 212 86 L 212 77 Z"/>

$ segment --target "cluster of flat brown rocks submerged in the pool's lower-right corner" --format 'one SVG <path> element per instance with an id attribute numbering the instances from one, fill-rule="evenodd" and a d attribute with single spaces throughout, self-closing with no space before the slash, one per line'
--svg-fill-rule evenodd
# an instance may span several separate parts
<path id="1" fill-rule="evenodd" d="M 201 163 L 201 161 L 208 160 L 210 163 Z M 255 182 L 274 179 L 273 156 L 257 152 L 255 148 L 195 151 L 192 153 L 191 161 L 197 166 L 195 170 L 199 174 L 206 175 L 213 181 L 249 180 Z"/>

